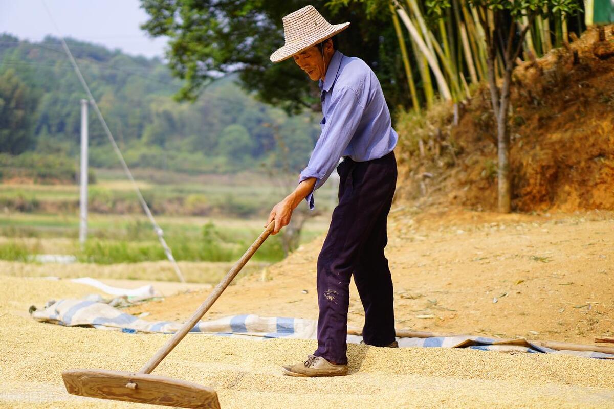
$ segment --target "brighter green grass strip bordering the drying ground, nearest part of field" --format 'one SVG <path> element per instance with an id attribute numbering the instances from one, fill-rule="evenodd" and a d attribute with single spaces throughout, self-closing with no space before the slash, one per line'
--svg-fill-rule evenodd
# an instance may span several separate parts
<path id="1" fill-rule="evenodd" d="M 169 216 L 160 218 L 164 237 L 178 261 L 236 261 L 263 230 L 263 220 L 233 220 Z M 324 232 L 325 222 L 317 221 L 303 230 L 301 242 Z M 93 215 L 84 248 L 77 242 L 76 216 L 16 213 L 0 216 L 0 259 L 25 261 L 18 254 L 69 253 L 80 262 L 114 264 L 166 260 L 166 255 L 149 221 L 142 216 Z M 31 240 L 29 247 L 17 244 Z M 66 241 L 72 245 L 66 247 Z M 56 243 L 57 242 L 57 243 Z M 38 249 L 38 250 L 36 250 Z M 35 251 L 36 250 L 36 251 Z M 276 262 L 284 257 L 281 236 L 271 236 L 254 254 L 255 261 Z"/>

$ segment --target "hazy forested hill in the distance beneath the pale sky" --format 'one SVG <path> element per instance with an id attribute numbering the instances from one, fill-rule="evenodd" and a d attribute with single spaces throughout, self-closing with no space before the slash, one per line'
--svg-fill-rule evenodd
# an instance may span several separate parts
<path id="1" fill-rule="evenodd" d="M 314 118 L 288 117 L 256 101 L 232 75 L 212 83 L 194 104 L 180 104 L 173 94 L 181 83 L 160 59 L 67 43 L 132 167 L 236 172 L 264 163 L 294 172 L 305 166 L 319 134 Z M 59 39 L 0 34 L 2 153 L 77 156 L 84 97 Z M 90 141 L 92 166 L 117 166 L 93 110 Z"/>

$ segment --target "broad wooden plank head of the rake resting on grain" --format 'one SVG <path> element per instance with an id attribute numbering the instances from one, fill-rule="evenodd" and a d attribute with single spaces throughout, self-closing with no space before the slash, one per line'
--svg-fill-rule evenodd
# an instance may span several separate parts
<path id="1" fill-rule="evenodd" d="M 69 394 L 193 409 L 220 409 L 214 389 L 146 373 L 103 369 L 62 372 Z M 130 387 L 126 384 L 131 384 Z"/>

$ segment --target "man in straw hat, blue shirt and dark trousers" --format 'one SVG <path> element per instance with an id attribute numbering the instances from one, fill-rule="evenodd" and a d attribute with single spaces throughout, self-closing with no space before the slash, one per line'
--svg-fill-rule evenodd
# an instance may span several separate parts
<path id="1" fill-rule="evenodd" d="M 305 362 L 283 371 L 297 377 L 345 375 L 352 273 L 365 308 L 363 342 L 398 346 L 392 280 L 384 256 L 386 218 L 397 181 L 392 150 L 398 137 L 378 78 L 362 59 L 336 49 L 332 37 L 349 23 L 330 25 L 313 6 L 290 13 L 283 21 L 286 44 L 271 55 L 271 61 L 293 58 L 311 80 L 319 82 L 324 118 L 297 188 L 273 207 L 266 225 L 274 220 L 273 234 L 277 234 L 303 199 L 314 208 L 314 191 L 335 167 L 340 176 L 339 204 L 317 259 L 318 347 Z"/>

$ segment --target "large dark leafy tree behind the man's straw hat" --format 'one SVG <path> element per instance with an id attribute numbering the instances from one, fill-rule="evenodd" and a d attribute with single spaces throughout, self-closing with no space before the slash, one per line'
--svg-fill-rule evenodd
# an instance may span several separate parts
<path id="1" fill-rule="evenodd" d="M 154 37 L 168 36 L 169 66 L 185 85 L 179 99 L 194 100 L 220 72 L 239 72 L 241 84 L 263 102 L 287 112 L 319 110 L 319 90 L 292 61 L 272 64 L 284 44 L 282 18 L 313 4 L 331 23 L 351 21 L 339 36 L 340 49 L 364 59 L 376 72 L 390 107 L 409 105 L 402 64 L 383 64 L 397 37 L 384 11 L 367 20 L 362 4 L 325 0 L 141 0 L 149 14 L 142 25 Z"/>

